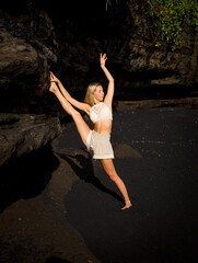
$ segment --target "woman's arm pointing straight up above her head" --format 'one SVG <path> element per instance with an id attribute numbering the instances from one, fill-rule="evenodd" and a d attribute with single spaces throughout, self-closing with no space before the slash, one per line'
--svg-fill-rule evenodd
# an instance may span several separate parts
<path id="1" fill-rule="evenodd" d="M 106 104 L 108 104 L 109 107 L 112 107 L 112 101 L 113 101 L 113 96 L 114 96 L 114 78 L 112 77 L 110 72 L 108 71 L 108 69 L 105 66 L 106 59 L 107 59 L 106 54 L 104 54 L 104 55 L 101 54 L 101 68 L 103 69 L 103 71 L 108 80 L 108 88 L 107 88 L 107 93 L 104 99 L 104 102 Z"/>

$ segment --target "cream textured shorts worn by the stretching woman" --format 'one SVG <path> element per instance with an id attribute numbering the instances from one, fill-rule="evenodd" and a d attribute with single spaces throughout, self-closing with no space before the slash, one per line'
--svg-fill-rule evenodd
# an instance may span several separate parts
<path id="1" fill-rule="evenodd" d="M 93 159 L 114 159 L 114 151 L 110 144 L 110 135 L 98 134 L 94 129 L 86 138 L 88 150 L 93 155 Z"/>

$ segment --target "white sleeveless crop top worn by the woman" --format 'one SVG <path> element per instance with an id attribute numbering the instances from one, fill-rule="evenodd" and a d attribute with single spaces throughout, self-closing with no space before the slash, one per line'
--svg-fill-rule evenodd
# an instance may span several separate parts
<path id="1" fill-rule="evenodd" d="M 113 119 L 110 108 L 103 102 L 90 108 L 90 118 L 93 123 L 101 119 Z"/>

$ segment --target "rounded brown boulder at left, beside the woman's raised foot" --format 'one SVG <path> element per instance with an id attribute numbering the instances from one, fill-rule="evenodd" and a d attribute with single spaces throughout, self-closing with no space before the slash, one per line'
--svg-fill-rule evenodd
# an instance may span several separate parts
<path id="1" fill-rule="evenodd" d="M 0 39 L 1 111 L 27 111 L 47 90 L 46 59 L 7 31 L 0 31 Z"/>

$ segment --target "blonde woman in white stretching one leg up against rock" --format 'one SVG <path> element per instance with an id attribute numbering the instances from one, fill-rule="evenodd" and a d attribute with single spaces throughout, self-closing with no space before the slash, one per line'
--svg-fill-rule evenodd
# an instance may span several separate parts
<path id="1" fill-rule="evenodd" d="M 81 139 L 88 147 L 89 151 L 92 151 L 93 158 L 101 160 L 105 172 L 118 186 L 125 199 L 125 206 L 121 208 L 124 210 L 131 207 L 131 202 L 127 188 L 121 179 L 117 175 L 113 163 L 114 152 L 109 139 L 113 119 L 112 103 L 114 96 L 114 79 L 105 67 L 106 59 L 106 54 L 101 54 L 101 68 L 108 79 L 108 89 L 105 96 L 103 87 L 100 83 L 92 83 L 88 88 L 84 100 L 85 103 L 79 102 L 68 93 L 59 79 L 51 72 L 49 91 L 57 96 L 65 111 L 73 118 Z M 58 83 L 61 92 L 56 83 Z M 91 121 L 94 123 L 93 130 L 90 129 L 81 114 L 74 107 L 84 111 L 90 116 Z"/>

